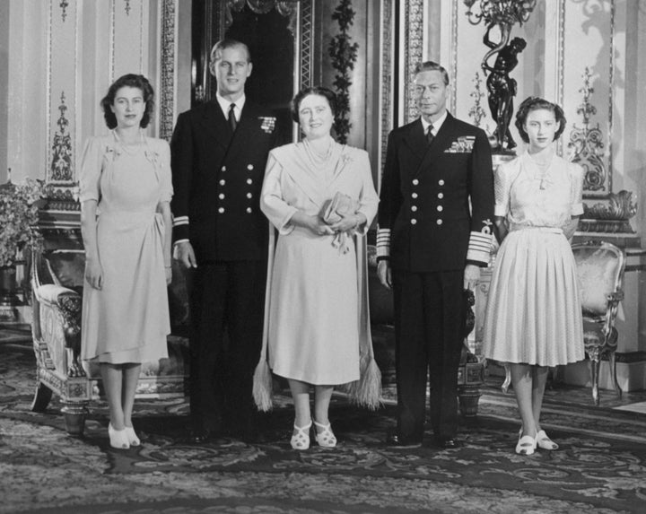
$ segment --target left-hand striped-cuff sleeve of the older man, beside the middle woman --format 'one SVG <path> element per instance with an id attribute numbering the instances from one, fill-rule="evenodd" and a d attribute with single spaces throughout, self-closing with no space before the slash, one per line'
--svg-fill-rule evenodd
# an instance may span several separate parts
<path id="1" fill-rule="evenodd" d="M 399 165 L 394 132 L 388 135 L 386 162 L 381 177 L 380 208 L 377 228 L 377 260 L 390 258 L 390 231 L 401 207 L 403 198 L 399 187 Z"/>

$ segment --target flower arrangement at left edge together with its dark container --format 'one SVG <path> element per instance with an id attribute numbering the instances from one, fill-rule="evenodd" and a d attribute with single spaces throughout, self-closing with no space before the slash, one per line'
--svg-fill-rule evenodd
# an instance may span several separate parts
<path id="1" fill-rule="evenodd" d="M 35 242 L 32 228 L 44 193 L 42 180 L 13 184 L 9 179 L 0 186 L 0 305 L 15 304 L 16 264 L 20 252 Z"/>

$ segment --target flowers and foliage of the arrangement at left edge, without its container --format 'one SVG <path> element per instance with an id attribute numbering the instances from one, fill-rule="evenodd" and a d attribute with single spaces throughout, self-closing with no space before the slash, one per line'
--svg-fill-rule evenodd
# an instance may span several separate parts
<path id="1" fill-rule="evenodd" d="M 0 267 L 15 265 L 18 251 L 31 244 L 45 190 L 44 182 L 34 179 L 0 186 Z"/>

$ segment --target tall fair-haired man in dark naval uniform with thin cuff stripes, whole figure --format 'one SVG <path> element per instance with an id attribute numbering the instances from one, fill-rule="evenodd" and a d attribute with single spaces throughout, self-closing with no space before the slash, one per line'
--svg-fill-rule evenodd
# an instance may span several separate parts
<path id="1" fill-rule="evenodd" d="M 223 39 L 209 64 L 215 101 L 179 115 L 170 143 L 175 258 L 189 289 L 190 410 L 196 442 L 255 435 L 251 394 L 260 355 L 267 221 L 259 196 L 275 117 L 245 97 L 249 48 Z M 226 334 L 226 337 L 225 337 Z"/>

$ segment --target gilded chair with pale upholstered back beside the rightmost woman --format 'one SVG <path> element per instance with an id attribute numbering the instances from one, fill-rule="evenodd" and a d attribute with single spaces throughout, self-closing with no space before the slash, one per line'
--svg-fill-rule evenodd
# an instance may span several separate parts
<path id="1" fill-rule="evenodd" d="M 583 309 L 583 338 L 589 357 L 592 397 L 599 404 L 599 365 L 607 357 L 610 378 L 617 395 L 622 390 L 616 379 L 615 351 L 617 331 L 615 318 L 619 302 L 624 299 L 624 252 L 610 243 L 576 244 L 572 252 L 577 263 Z"/>

